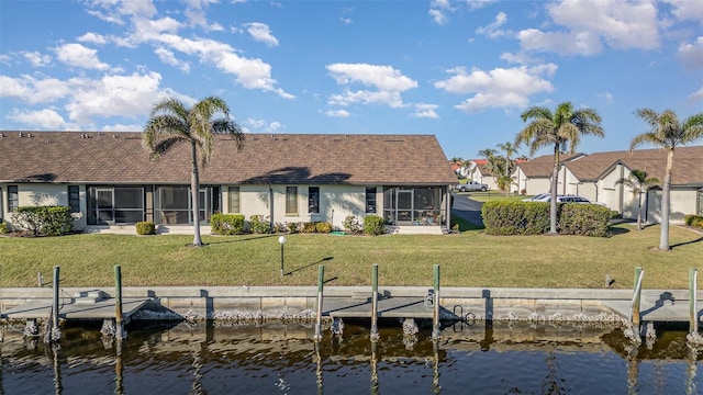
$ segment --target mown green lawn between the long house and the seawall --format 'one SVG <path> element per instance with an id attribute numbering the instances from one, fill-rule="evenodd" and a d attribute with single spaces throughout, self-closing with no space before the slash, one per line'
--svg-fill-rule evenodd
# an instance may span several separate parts
<path id="1" fill-rule="evenodd" d="M 645 269 L 647 289 L 688 289 L 690 267 L 701 269 L 703 236 L 671 227 L 671 251 L 656 250 L 659 227 L 638 232 L 613 228 L 610 238 L 578 236 L 458 235 L 335 236 L 287 235 L 280 276 L 277 235 L 191 236 L 72 235 L 0 237 L 0 286 L 36 286 L 41 272 L 51 283 L 60 267 L 63 286 L 114 286 L 122 267 L 124 286 L 315 285 L 325 264 L 327 285 L 369 285 L 379 264 L 381 285 L 432 286 L 433 264 L 442 266 L 443 286 L 614 287 L 633 285 L 634 268 Z"/>

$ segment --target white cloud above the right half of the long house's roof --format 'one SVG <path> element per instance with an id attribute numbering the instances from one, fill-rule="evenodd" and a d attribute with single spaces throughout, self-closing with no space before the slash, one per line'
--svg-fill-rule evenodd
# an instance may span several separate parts
<path id="1" fill-rule="evenodd" d="M 332 78 L 341 86 L 361 84 L 375 90 L 345 90 L 343 94 L 333 94 L 327 101 L 331 105 L 346 106 L 353 103 L 383 104 L 391 108 L 403 105 L 401 93 L 417 88 L 417 82 L 403 76 L 390 66 L 367 64 L 332 64 L 326 66 Z"/>

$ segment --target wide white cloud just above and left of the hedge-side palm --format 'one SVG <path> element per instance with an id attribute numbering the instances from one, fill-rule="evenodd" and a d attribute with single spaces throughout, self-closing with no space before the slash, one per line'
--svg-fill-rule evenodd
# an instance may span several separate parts
<path id="1" fill-rule="evenodd" d="M 477 68 L 470 72 L 456 67 L 447 70 L 453 76 L 435 82 L 435 88 L 456 94 L 473 94 L 455 106 L 470 113 L 488 108 L 520 108 L 527 105 L 532 94 L 551 92 L 554 87 L 545 78 L 551 78 L 556 71 L 554 64 L 490 71 Z"/>

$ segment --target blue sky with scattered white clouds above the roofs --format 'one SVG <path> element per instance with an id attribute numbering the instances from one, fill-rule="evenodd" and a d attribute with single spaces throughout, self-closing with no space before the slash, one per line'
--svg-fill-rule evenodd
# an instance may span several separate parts
<path id="1" fill-rule="evenodd" d="M 0 0 L 1 129 L 142 131 L 213 94 L 247 132 L 434 134 L 447 158 L 571 101 L 605 129 L 580 151 L 622 150 L 636 109 L 703 111 L 703 2 Z"/>

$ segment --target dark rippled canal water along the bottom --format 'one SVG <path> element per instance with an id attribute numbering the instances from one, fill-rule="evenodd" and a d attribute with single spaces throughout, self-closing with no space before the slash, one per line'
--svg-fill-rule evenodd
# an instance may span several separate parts
<path id="1" fill-rule="evenodd" d="M 685 331 L 632 346 L 607 325 L 457 323 L 432 341 L 381 323 L 132 325 L 120 343 L 69 326 L 58 345 L 3 327 L 0 394 L 701 394 Z M 21 328 L 19 328 L 21 329 Z"/>

